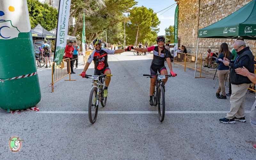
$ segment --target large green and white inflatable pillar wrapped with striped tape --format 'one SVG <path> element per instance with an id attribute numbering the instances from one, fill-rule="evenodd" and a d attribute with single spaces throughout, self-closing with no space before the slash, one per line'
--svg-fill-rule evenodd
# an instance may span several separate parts
<path id="1" fill-rule="evenodd" d="M 34 107 L 41 91 L 27 0 L 1 0 L 0 48 L 0 108 Z"/>

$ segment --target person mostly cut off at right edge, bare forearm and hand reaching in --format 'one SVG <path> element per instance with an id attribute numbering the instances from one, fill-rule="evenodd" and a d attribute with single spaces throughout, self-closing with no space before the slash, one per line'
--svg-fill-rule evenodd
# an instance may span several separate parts
<path id="1" fill-rule="evenodd" d="M 253 73 L 250 73 L 248 69 L 246 69 L 244 66 L 243 68 L 236 68 L 236 73 L 242 76 L 248 77 L 252 83 L 256 84 L 256 75 Z M 252 125 L 252 128 L 254 131 L 256 131 L 256 100 L 254 101 L 254 104 L 252 105 L 252 109 L 250 112 L 250 123 Z M 256 144 L 253 144 L 252 147 L 256 149 Z"/>

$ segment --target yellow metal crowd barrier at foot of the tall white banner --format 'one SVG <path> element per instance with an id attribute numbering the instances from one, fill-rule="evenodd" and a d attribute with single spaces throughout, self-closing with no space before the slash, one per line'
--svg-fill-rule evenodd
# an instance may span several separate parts
<path id="1" fill-rule="evenodd" d="M 53 84 L 66 76 L 69 76 L 69 80 L 65 80 L 65 81 L 75 81 L 70 79 L 70 59 L 69 58 L 63 59 L 59 65 L 56 65 L 56 62 L 53 62 L 52 63 L 52 84 L 51 84 L 52 92 L 54 90 Z"/>

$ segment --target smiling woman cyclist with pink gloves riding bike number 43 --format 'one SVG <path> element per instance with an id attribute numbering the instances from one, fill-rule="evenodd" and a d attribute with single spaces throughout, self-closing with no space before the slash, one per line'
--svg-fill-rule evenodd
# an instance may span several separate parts
<path id="1" fill-rule="evenodd" d="M 164 36 L 157 36 L 156 37 L 156 43 L 158 46 L 152 46 L 149 48 L 133 48 L 135 51 L 140 51 L 140 52 L 151 52 L 153 51 L 154 56 L 153 60 L 150 65 L 150 74 L 151 75 L 156 75 L 157 71 L 161 75 L 167 75 L 167 69 L 164 66 L 164 59 L 166 58 L 168 67 L 170 69 L 170 73 L 173 77 L 175 77 L 177 74 L 172 71 L 172 63 L 171 63 L 171 54 L 170 52 L 164 47 L 164 41 L 165 38 Z M 167 77 L 166 79 L 163 79 L 164 84 L 167 82 Z M 149 104 L 151 106 L 154 105 L 153 103 L 153 93 L 154 93 L 154 88 L 155 88 L 155 83 L 156 83 L 156 76 L 154 78 L 150 78 L 150 87 L 149 87 Z"/>

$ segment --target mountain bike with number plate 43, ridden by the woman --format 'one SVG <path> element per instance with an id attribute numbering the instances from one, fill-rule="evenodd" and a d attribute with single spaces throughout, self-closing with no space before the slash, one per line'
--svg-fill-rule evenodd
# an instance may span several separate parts
<path id="1" fill-rule="evenodd" d="M 153 76 L 156 76 L 156 84 L 155 84 L 155 89 L 153 93 L 153 102 L 154 106 L 157 105 L 158 108 L 158 118 L 160 122 L 164 121 L 164 114 L 165 114 L 165 89 L 164 89 L 164 82 L 162 79 L 165 79 L 165 76 L 167 78 L 172 77 L 172 75 L 143 75 L 143 76 L 148 76 L 149 78 L 154 78 Z M 147 78 L 148 78 L 147 77 Z"/>

